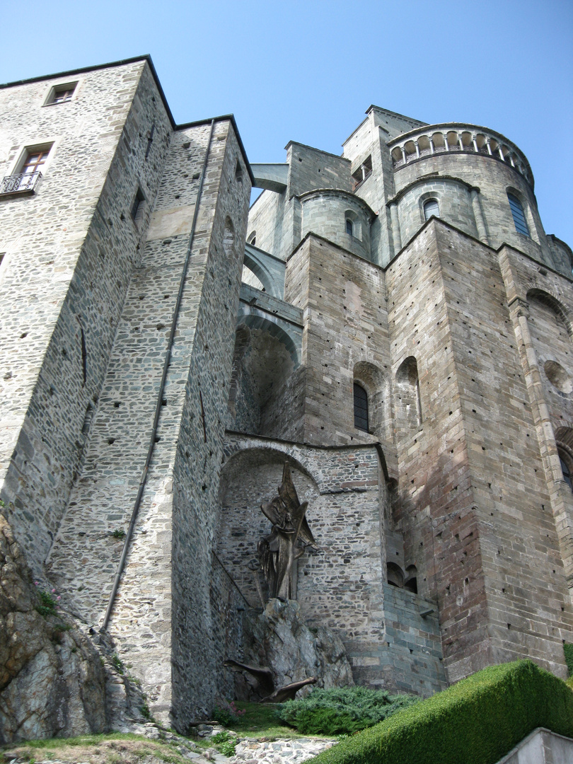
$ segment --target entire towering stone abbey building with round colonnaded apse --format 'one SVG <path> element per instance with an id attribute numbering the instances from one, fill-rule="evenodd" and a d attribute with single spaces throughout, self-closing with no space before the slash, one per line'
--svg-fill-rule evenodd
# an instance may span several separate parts
<path id="1" fill-rule="evenodd" d="M 342 156 L 251 165 L 231 116 L 175 125 L 149 57 L 0 99 L 0 496 L 154 715 L 232 697 L 285 462 L 293 596 L 355 681 L 565 675 L 572 257 L 519 147 L 371 106 Z"/>

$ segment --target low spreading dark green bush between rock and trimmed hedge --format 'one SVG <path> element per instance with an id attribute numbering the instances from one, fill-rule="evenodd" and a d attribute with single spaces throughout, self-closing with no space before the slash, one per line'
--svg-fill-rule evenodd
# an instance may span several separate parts
<path id="1" fill-rule="evenodd" d="M 306 698 L 284 703 L 279 717 L 303 735 L 337 735 L 364 730 L 418 701 L 413 695 L 366 687 L 317 688 Z"/>

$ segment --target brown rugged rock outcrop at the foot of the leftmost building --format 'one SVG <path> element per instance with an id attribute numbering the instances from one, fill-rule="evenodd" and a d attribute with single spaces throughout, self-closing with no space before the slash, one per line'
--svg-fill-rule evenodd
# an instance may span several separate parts
<path id="1" fill-rule="evenodd" d="M 38 607 L 24 556 L 0 514 L 0 743 L 107 727 L 99 653 L 69 617 Z"/>

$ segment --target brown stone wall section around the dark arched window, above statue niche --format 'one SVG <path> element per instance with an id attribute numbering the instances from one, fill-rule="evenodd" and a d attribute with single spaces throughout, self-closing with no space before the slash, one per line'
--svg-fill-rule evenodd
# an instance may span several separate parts
<path id="1" fill-rule="evenodd" d="M 286 267 L 286 299 L 303 309 L 306 366 L 304 439 L 316 444 L 374 442 L 354 428 L 354 366 L 389 371 L 384 274 L 374 264 L 309 235 Z M 389 434 L 380 417 L 376 439 Z"/>

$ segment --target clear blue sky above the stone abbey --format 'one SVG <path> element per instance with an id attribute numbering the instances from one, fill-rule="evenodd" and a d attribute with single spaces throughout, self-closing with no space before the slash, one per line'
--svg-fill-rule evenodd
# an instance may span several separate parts
<path id="1" fill-rule="evenodd" d="M 3 0 L 0 28 L 2 82 L 151 53 L 176 121 L 233 112 L 253 162 L 340 154 L 371 103 L 493 128 L 573 246 L 572 0 Z"/>

